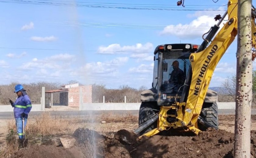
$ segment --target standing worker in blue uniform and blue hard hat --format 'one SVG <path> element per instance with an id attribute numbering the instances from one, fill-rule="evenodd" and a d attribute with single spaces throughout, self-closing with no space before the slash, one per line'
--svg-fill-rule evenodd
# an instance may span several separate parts
<path id="1" fill-rule="evenodd" d="M 15 86 L 14 93 L 17 94 L 18 98 L 15 102 L 13 102 L 10 98 L 9 101 L 12 107 L 14 107 L 13 112 L 19 139 L 23 140 L 25 139 L 24 131 L 27 124 L 28 114 L 32 108 L 32 105 L 30 98 L 26 93 L 26 90 L 23 88 L 21 84 L 17 84 Z"/>

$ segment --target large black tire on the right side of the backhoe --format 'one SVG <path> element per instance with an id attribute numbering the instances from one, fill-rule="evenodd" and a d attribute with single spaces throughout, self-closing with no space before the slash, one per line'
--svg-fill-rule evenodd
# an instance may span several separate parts
<path id="1" fill-rule="evenodd" d="M 218 106 L 217 103 L 206 103 L 204 102 L 200 116 L 213 127 L 218 128 L 219 119 L 218 119 Z M 201 131 L 206 131 L 207 127 L 198 123 L 198 128 Z"/>

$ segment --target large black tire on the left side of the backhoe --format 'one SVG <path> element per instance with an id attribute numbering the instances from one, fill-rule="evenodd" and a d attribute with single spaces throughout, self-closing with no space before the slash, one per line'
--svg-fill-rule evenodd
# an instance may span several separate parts
<path id="1" fill-rule="evenodd" d="M 157 106 L 156 101 L 141 102 L 139 111 L 139 126 L 157 114 L 159 110 L 160 107 Z M 154 122 L 151 126 L 148 127 L 148 129 L 141 131 L 139 135 L 143 135 L 144 133 L 147 133 L 155 128 L 157 128 L 157 122 Z"/>

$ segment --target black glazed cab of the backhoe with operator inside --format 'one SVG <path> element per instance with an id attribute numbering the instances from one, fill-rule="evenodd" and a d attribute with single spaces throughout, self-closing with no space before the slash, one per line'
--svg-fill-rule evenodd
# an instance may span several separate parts
<path id="1" fill-rule="evenodd" d="M 152 87 L 158 91 L 158 104 L 180 102 L 190 67 L 189 57 L 198 47 L 194 44 L 165 44 L 156 47 Z"/>

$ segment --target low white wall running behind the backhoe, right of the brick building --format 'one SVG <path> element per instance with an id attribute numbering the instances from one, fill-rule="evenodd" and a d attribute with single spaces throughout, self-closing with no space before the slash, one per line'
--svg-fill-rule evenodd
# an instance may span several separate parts
<path id="1" fill-rule="evenodd" d="M 235 102 L 218 102 L 219 109 L 235 109 Z M 82 103 L 79 110 L 100 111 L 100 110 L 139 110 L 140 103 Z"/>

